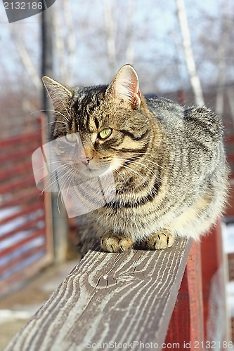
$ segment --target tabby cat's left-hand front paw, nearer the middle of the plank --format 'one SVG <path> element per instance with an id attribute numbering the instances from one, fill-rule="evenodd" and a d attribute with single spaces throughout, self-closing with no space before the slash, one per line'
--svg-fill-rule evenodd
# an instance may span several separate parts
<path id="1" fill-rule="evenodd" d="M 119 252 L 126 251 L 133 246 L 134 241 L 131 238 L 123 237 L 122 235 L 105 234 L 100 239 L 100 246 L 104 251 Z"/>

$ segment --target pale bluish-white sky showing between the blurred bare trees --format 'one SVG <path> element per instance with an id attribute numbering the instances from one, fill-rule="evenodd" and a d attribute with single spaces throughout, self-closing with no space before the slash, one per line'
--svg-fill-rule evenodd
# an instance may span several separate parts
<path id="1" fill-rule="evenodd" d="M 62 0 L 56 0 L 48 11 L 53 11 L 56 15 L 56 9 L 59 8 Z M 105 53 L 106 42 L 97 41 L 95 48 L 95 35 L 97 30 L 104 28 L 103 1 L 102 0 L 71 0 L 72 16 L 74 22 L 74 35 L 77 43 L 77 52 L 74 60 L 72 77 L 74 82 L 81 84 L 104 84 L 108 83 L 110 75 L 105 69 L 105 60 L 98 58 L 96 55 Z M 110 0 L 112 5 L 112 13 L 124 18 L 124 13 L 119 11 L 122 4 L 126 1 Z M 202 12 L 205 11 L 214 17 L 219 16 L 221 4 L 228 3 L 228 0 L 185 0 L 186 10 L 190 25 L 190 32 L 193 42 L 202 33 Z M 119 8 L 114 8 L 115 4 L 119 4 Z M 40 75 L 40 55 L 39 55 L 39 20 L 40 15 L 35 15 L 26 20 L 8 24 L 4 6 L 0 3 L 0 84 L 6 84 L 1 77 L 7 77 L 9 84 L 15 84 L 15 77 L 19 74 L 23 75 L 23 68 L 18 54 L 17 48 L 11 39 L 10 32 L 17 30 L 20 40 L 25 42 L 27 50 L 30 53 L 38 74 Z M 82 25 L 89 29 L 90 35 L 84 36 Z M 64 23 L 61 22 L 61 28 Z M 96 29 L 98 28 L 98 29 Z M 93 30 L 93 32 L 92 32 Z M 20 36 L 20 31 L 22 36 Z M 94 39 L 93 39 L 94 38 Z M 173 90 L 188 84 L 188 73 L 183 60 L 183 52 L 180 48 L 180 33 L 178 30 L 178 22 L 176 18 L 176 0 L 136 0 L 134 12 L 134 55 L 138 58 L 134 62 L 134 66 L 138 70 L 140 79 L 142 72 L 142 81 L 147 86 L 150 74 L 160 74 L 162 65 L 162 74 L 159 75 L 157 84 L 162 91 Z M 92 42 L 94 40 L 94 43 Z M 199 60 L 200 48 L 193 47 L 195 58 Z M 97 53 L 97 54 L 96 54 Z M 103 56 L 104 57 L 104 56 Z M 175 70 L 173 63 L 175 58 L 178 59 L 178 68 Z M 168 62 L 168 63 L 167 63 Z M 118 64 L 118 69 L 126 63 L 123 56 Z M 129 62 L 132 63 L 132 62 Z M 103 65 L 103 67 L 102 67 Z M 167 69 L 168 74 L 164 71 Z M 203 64 L 204 66 L 204 64 Z M 166 68 L 165 68 L 166 67 Z M 56 64 L 59 70 L 59 63 Z M 2 72 L 1 72 L 2 71 Z M 167 72 L 167 71 L 166 71 Z M 215 77 L 214 67 L 207 64 L 203 69 L 207 74 L 207 79 Z M 55 73 L 55 75 L 58 73 Z M 203 74 L 203 77 L 204 77 Z M 27 76 L 27 72 L 25 72 Z M 171 75 L 171 79 L 169 79 Z M 30 77 L 28 77 L 30 79 Z M 55 77 L 56 78 L 56 77 Z M 18 77 L 19 79 L 19 77 Z M 22 81 L 23 81 L 22 77 Z M 151 85 L 152 87 L 152 82 Z"/>

